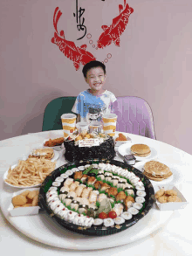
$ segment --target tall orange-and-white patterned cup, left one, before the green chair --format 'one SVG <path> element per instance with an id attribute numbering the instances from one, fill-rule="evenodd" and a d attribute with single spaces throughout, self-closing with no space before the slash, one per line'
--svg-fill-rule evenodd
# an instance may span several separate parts
<path id="1" fill-rule="evenodd" d="M 74 132 L 76 126 L 75 114 L 62 114 L 61 115 L 62 126 L 64 130 L 64 138 L 68 137 Z"/>

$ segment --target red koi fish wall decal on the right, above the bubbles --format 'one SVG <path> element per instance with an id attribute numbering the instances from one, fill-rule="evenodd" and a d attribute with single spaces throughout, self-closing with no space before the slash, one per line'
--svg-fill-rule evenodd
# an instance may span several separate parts
<path id="1" fill-rule="evenodd" d="M 104 48 L 107 45 L 111 45 L 112 42 L 114 45 L 120 47 L 120 35 L 125 31 L 128 18 L 134 12 L 134 9 L 129 7 L 126 0 L 124 0 L 123 10 L 122 4 L 119 5 L 120 15 L 113 18 L 113 23 L 108 27 L 107 25 L 102 25 L 101 28 L 104 32 L 99 36 L 98 48 Z"/>

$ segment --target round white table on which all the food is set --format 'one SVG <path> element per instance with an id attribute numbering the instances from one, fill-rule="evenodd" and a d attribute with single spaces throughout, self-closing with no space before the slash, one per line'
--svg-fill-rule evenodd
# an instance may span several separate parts
<path id="1" fill-rule="evenodd" d="M 155 204 L 145 218 L 142 218 L 138 224 L 111 236 L 94 238 L 84 237 L 82 235 L 65 232 L 65 245 L 57 245 L 54 240 L 58 234 L 58 242 L 62 241 L 62 230 L 56 229 L 50 234 L 51 228 L 55 226 L 47 222 L 46 232 L 50 238 L 49 242 L 44 239 L 34 238 L 30 230 L 30 219 L 24 217 L 24 228 L 17 225 L 17 217 L 10 218 L 6 208 L 11 194 L 17 189 L 10 188 L 3 183 L 3 173 L 10 165 L 17 163 L 18 159 L 26 156 L 31 149 L 42 145 L 45 139 L 54 138 L 62 135 L 62 131 L 47 131 L 30 135 L 22 135 L 0 142 L 0 190 L 1 190 L 1 214 L 0 214 L 0 245 L 2 252 L 6 255 L 19 253 L 19 255 L 192 255 L 192 222 L 191 222 L 191 186 L 192 186 L 192 156 L 176 149 L 166 143 L 154 141 L 139 135 L 129 135 L 134 143 L 145 143 L 153 147 L 157 152 L 157 159 L 169 163 L 172 168 L 181 174 L 182 180 L 176 183 L 176 187 L 182 192 L 189 204 L 176 211 L 160 211 Z M 117 154 L 115 160 L 122 161 L 122 157 Z M 60 151 L 57 165 L 66 163 L 63 151 Z M 136 163 L 135 168 L 141 170 L 141 163 Z M 9 204 L 8 204 L 9 205 Z M 22 219 L 22 217 L 19 217 Z M 46 225 L 46 216 L 40 216 L 44 219 Z M 150 219 L 149 219 L 150 218 Z M 8 220 L 7 220 L 8 219 Z M 21 219 L 19 221 L 21 221 Z M 28 221 L 26 221 L 26 219 Z M 35 218 L 34 218 L 35 219 Z M 18 223 L 19 223 L 18 221 Z M 156 221 L 156 225 L 155 225 Z M 34 226 L 34 228 L 39 229 Z M 50 230 L 49 230 L 50 229 Z M 25 234 L 23 232 L 25 230 Z M 45 232 L 38 230 L 39 233 Z M 52 234 L 52 237 L 51 237 Z M 131 238 L 134 238 L 133 240 Z M 67 240 L 68 239 L 68 240 Z M 51 246 L 50 246 L 51 245 Z M 55 245 L 55 246 L 52 246 Z M 62 247 L 62 248 L 59 248 Z M 99 249 L 99 251 L 98 251 Z"/>

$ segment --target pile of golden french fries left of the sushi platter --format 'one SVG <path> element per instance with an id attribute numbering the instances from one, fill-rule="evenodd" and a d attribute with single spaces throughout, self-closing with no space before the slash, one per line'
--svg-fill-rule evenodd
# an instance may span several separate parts
<path id="1" fill-rule="evenodd" d="M 55 170 L 56 162 L 48 159 L 28 158 L 19 160 L 17 166 L 8 170 L 6 183 L 14 186 L 34 186 L 42 183 L 45 177 Z"/>

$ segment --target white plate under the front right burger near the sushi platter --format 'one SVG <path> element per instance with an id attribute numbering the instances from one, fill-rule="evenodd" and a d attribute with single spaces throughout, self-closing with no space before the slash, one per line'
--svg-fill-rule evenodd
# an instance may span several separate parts
<path id="1" fill-rule="evenodd" d="M 157 158 L 154 159 L 154 161 L 158 161 L 160 163 L 166 164 L 169 167 L 169 169 L 171 170 L 171 172 L 173 173 L 172 176 L 169 176 L 167 179 L 164 179 L 164 180 L 159 181 L 159 182 L 149 179 L 150 182 L 154 186 L 164 185 L 164 184 L 168 184 L 168 183 L 176 184 L 176 183 L 181 183 L 182 182 L 182 179 L 183 179 L 182 171 L 178 170 L 178 168 L 176 168 L 173 164 L 165 162 L 165 161 L 157 159 Z M 137 166 L 137 169 L 141 170 L 141 172 L 143 172 L 144 171 L 144 169 L 143 169 L 144 164 L 145 163 L 141 164 L 140 166 Z"/>

